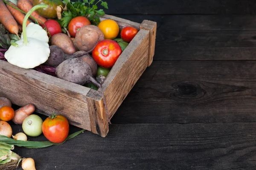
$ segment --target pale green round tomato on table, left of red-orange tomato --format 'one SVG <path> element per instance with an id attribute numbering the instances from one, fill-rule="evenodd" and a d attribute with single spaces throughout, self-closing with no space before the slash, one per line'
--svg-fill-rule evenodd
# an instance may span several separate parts
<path id="1" fill-rule="evenodd" d="M 42 131 L 43 120 L 38 115 L 32 114 L 27 116 L 22 123 L 23 132 L 27 136 L 39 136 Z"/>

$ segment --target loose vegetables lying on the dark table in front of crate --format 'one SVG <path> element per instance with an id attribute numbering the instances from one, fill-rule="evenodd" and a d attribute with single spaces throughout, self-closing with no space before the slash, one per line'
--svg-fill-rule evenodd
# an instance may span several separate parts
<path id="1" fill-rule="evenodd" d="M 12 152 L 14 145 L 19 147 L 40 148 L 54 144 L 62 144 L 83 132 L 69 134 L 69 123 L 64 116 L 52 113 L 51 116 L 43 119 L 33 114 L 35 106 L 32 104 L 20 107 L 16 111 L 12 103 L 6 97 L 0 97 L 0 169 L 16 169 L 21 162 L 23 170 L 35 170 L 35 161 L 32 158 L 21 159 Z M 11 123 L 21 125 L 23 132 L 13 135 Z M 49 141 L 33 142 L 28 141 L 27 136 L 35 137 L 43 134 Z"/>

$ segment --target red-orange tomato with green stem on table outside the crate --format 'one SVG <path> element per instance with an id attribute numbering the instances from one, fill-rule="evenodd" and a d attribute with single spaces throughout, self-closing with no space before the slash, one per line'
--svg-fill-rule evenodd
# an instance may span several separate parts
<path id="1" fill-rule="evenodd" d="M 44 136 L 53 143 L 63 142 L 69 133 L 69 123 L 64 116 L 54 112 L 44 120 L 42 125 Z"/>

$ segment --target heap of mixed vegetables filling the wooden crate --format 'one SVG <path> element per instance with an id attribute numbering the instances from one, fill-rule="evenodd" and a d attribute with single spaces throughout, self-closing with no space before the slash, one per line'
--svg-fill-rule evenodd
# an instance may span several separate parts
<path id="1" fill-rule="evenodd" d="M 0 0 L 5 11 L 0 13 L 0 22 L 6 30 L 19 37 L 10 25 L 22 24 L 20 40 L 10 41 L 3 59 L 102 91 L 104 79 L 138 30 L 125 27 L 120 31 L 116 21 L 100 21 L 105 12 L 97 4 L 108 8 L 102 0 L 17 0 L 17 6 Z M 3 19 L 7 15 L 12 20 Z M 103 91 L 102 96 L 108 115 Z"/>

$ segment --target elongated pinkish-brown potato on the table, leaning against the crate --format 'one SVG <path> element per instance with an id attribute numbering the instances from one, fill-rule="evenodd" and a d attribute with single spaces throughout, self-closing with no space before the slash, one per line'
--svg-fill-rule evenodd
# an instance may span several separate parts
<path id="1" fill-rule="evenodd" d="M 23 106 L 15 111 L 15 115 L 12 119 L 12 122 L 14 122 L 17 125 L 22 125 L 23 120 L 31 115 L 35 111 L 35 106 L 32 104 L 28 104 L 26 106 Z"/>

